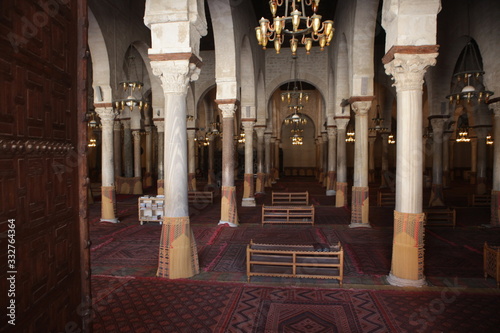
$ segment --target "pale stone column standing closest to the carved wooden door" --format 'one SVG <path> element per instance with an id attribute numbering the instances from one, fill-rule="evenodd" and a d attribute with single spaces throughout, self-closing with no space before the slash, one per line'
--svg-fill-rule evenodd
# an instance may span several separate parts
<path id="1" fill-rule="evenodd" d="M 118 223 L 116 218 L 115 170 L 113 156 L 113 123 L 116 116 L 111 107 L 96 105 L 102 124 L 101 222 Z"/>

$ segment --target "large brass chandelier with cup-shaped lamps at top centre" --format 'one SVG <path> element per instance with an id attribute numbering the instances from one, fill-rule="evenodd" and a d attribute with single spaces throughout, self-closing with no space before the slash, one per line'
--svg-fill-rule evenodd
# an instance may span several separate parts
<path id="1" fill-rule="evenodd" d="M 274 41 L 274 49 L 279 54 L 283 42 L 289 37 L 292 55 L 297 54 L 299 40 L 304 45 L 306 54 L 310 53 L 313 42 L 318 42 L 323 51 L 325 45 L 330 45 L 335 29 L 332 20 L 321 22 L 321 15 L 316 13 L 319 2 L 320 0 L 270 0 L 273 23 L 264 17 L 259 20 L 259 26 L 255 28 L 259 45 L 265 50 L 268 41 Z M 283 11 L 283 5 L 284 15 L 277 15 L 278 7 Z M 312 16 L 306 16 L 306 6 Z"/>

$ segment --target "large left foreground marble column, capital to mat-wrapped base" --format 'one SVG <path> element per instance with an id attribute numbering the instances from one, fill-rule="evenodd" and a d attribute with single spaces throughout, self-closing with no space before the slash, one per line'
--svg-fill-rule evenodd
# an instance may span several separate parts
<path id="1" fill-rule="evenodd" d="M 165 60 L 174 56 L 176 60 Z M 198 251 L 189 221 L 186 96 L 189 81 L 198 78 L 200 70 L 196 64 L 201 61 L 194 54 L 174 56 L 149 55 L 165 95 L 164 181 L 168 186 L 164 187 L 157 276 L 169 279 L 199 273 Z"/>

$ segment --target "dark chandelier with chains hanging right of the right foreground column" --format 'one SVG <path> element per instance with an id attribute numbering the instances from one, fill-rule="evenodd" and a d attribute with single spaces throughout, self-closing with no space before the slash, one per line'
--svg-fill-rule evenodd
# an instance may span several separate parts
<path id="1" fill-rule="evenodd" d="M 452 77 L 452 89 L 446 98 L 450 103 L 460 104 L 461 101 L 477 101 L 477 103 L 488 103 L 493 95 L 492 91 L 486 90 L 483 84 L 483 61 L 479 52 L 479 46 L 473 38 L 470 38 L 458 57 Z"/>

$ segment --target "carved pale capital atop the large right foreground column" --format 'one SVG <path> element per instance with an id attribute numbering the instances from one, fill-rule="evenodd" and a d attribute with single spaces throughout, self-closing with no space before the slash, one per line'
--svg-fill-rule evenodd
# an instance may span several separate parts
<path id="1" fill-rule="evenodd" d="M 394 59 L 385 64 L 385 72 L 392 75 L 396 91 L 422 90 L 424 74 L 429 66 L 436 64 L 438 53 L 394 54 Z"/>

